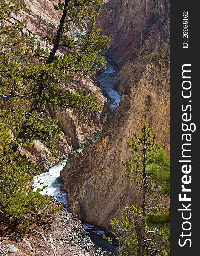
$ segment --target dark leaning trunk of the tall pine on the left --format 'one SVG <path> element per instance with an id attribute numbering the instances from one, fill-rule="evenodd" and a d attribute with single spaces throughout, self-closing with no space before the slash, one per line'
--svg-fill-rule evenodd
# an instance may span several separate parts
<path id="1" fill-rule="evenodd" d="M 56 38 L 55 38 L 55 43 L 54 43 L 54 47 L 53 49 L 51 49 L 51 52 L 49 54 L 49 58 L 47 60 L 47 63 L 50 64 L 53 60 L 54 60 L 54 57 L 55 57 L 55 54 L 57 52 L 57 49 L 59 47 L 59 44 L 60 44 L 60 37 L 61 37 L 61 33 L 62 33 L 62 30 L 63 30 L 63 27 L 64 27 L 64 23 L 65 23 L 65 18 L 66 18 L 66 15 L 67 15 L 67 10 L 66 10 L 66 7 L 68 6 L 69 4 L 69 0 L 65 0 L 65 5 L 64 5 L 64 9 L 63 9 L 63 14 L 62 14 L 62 17 L 60 19 L 60 23 L 59 23 L 59 26 L 58 26 L 58 30 L 57 30 L 57 34 L 56 34 Z M 43 76 L 44 74 L 41 74 L 41 76 Z M 38 81 L 38 86 L 37 86 L 37 96 L 41 96 L 42 95 L 42 92 L 43 92 L 43 89 L 44 89 L 44 79 L 41 78 L 40 81 Z M 32 112 L 36 111 L 37 110 L 37 107 L 38 107 L 38 104 L 39 104 L 39 100 L 38 99 L 34 99 L 32 105 L 31 105 L 31 108 L 29 110 L 29 114 L 31 114 Z M 27 116 L 26 118 L 26 122 L 29 120 L 29 115 Z M 17 135 L 17 138 L 16 138 L 16 141 L 18 139 L 23 139 L 24 136 L 25 136 L 25 133 L 26 133 L 26 130 L 28 129 L 28 126 L 26 125 L 26 122 L 21 126 L 21 131 L 19 132 L 19 134 Z M 16 152 L 18 149 L 18 145 L 14 145 L 12 147 L 12 150 L 14 152 Z"/>

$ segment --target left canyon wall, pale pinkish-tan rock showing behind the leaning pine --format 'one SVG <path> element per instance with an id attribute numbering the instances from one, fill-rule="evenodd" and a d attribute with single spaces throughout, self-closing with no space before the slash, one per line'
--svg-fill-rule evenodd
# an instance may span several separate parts
<path id="1" fill-rule="evenodd" d="M 61 13 L 54 9 L 54 5 L 58 0 L 24 0 L 27 5 L 26 12 L 23 12 L 22 17 L 27 19 L 27 28 L 37 34 L 41 45 L 45 48 L 46 44 L 41 38 L 48 33 L 54 34 L 59 25 Z M 102 3 L 106 3 L 104 0 Z M 78 26 L 71 27 L 71 30 L 76 34 L 79 32 Z M 63 84 L 63 90 L 68 87 Z M 66 110 L 64 108 L 50 108 L 47 106 L 48 118 L 58 118 L 58 126 L 61 129 L 61 139 L 57 143 L 57 154 L 52 156 L 51 150 L 46 148 L 40 141 L 34 141 L 34 147 L 31 151 L 21 148 L 21 152 L 26 154 L 33 163 L 39 163 L 43 171 L 47 171 L 55 163 L 58 163 L 68 154 L 81 147 L 82 143 L 92 134 L 100 131 L 104 113 L 108 112 L 109 102 L 105 90 L 94 76 L 79 77 L 74 79 L 73 86 L 70 88 L 74 93 L 80 91 L 85 95 L 93 93 L 96 95 L 96 100 L 100 102 L 103 111 L 100 113 L 89 113 L 88 119 L 77 116 L 75 111 Z M 49 154 L 47 157 L 46 154 Z"/>

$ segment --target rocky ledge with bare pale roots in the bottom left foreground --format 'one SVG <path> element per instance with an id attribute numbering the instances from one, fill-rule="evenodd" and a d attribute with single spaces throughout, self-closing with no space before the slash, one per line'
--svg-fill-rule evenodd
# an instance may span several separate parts
<path id="1" fill-rule="evenodd" d="M 7 256 L 114 256 L 94 246 L 77 216 L 66 209 L 24 235 L 13 230 L 8 233 L 2 224 L 0 229 L 0 253 Z"/>

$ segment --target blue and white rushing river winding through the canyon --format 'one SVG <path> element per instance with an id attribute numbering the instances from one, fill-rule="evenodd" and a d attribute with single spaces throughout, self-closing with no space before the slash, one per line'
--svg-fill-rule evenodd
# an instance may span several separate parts
<path id="1" fill-rule="evenodd" d="M 109 57 L 104 56 L 104 58 L 107 61 L 106 70 L 102 74 L 97 76 L 97 80 L 100 82 L 100 84 L 103 86 L 104 90 L 106 90 L 106 93 L 110 97 L 111 107 L 116 108 L 120 102 L 120 95 L 116 90 L 114 90 L 112 83 L 117 74 L 117 64 L 113 59 Z M 94 134 L 94 136 L 92 137 L 93 141 L 96 142 L 98 140 L 98 137 L 99 137 L 99 133 Z M 81 152 L 82 150 L 83 150 L 83 147 L 76 151 Z M 35 176 L 33 186 L 34 186 L 34 190 L 38 188 L 41 189 L 44 185 L 47 186 L 47 188 L 41 193 L 55 196 L 55 198 L 58 201 L 60 201 L 60 203 L 62 203 L 63 206 L 68 211 L 70 211 L 69 204 L 68 204 L 68 194 L 65 191 L 60 191 L 60 187 L 63 184 L 60 182 L 60 179 L 59 179 L 60 171 L 66 165 L 66 162 L 67 162 L 67 158 L 61 161 L 60 163 L 58 163 L 57 165 L 51 167 L 49 169 L 49 172 L 43 172 L 40 175 Z M 40 182 L 38 183 L 38 181 Z M 43 182 L 43 184 L 40 184 L 41 182 Z M 103 233 L 105 233 L 106 236 L 109 235 L 108 233 L 89 223 L 83 223 L 83 226 L 86 234 L 90 236 L 91 241 L 96 246 L 99 246 L 108 251 L 111 251 L 116 255 L 117 244 L 116 243 L 109 244 L 102 237 Z"/>

